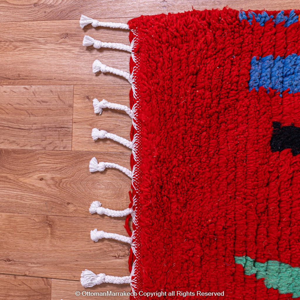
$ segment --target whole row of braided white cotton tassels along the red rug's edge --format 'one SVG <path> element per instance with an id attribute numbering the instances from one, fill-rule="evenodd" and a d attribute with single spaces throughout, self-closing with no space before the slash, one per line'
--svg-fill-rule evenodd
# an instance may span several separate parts
<path id="1" fill-rule="evenodd" d="M 129 29 L 129 26 L 127 24 L 113 23 L 113 22 L 100 22 L 98 20 L 88 18 L 87 16 L 82 15 L 81 19 L 80 19 L 80 27 L 83 28 L 84 26 L 86 26 L 88 24 L 91 24 L 91 26 L 93 26 L 93 27 L 104 26 L 104 27 L 110 27 L 110 28 Z M 132 32 L 134 35 L 136 35 L 135 31 L 132 31 Z M 96 40 L 96 39 L 86 35 L 83 38 L 82 45 L 83 46 L 93 46 L 97 49 L 113 48 L 113 49 L 120 49 L 120 50 L 124 50 L 127 52 L 131 52 L 131 57 L 132 57 L 134 63 L 136 65 L 138 65 L 138 61 L 137 61 L 136 55 L 134 53 L 136 38 L 137 37 L 135 37 L 132 40 L 131 45 L 128 46 L 128 45 L 124 45 L 124 44 L 120 44 L 120 43 L 105 43 L 105 42 Z M 108 138 L 108 139 L 117 141 L 117 142 L 125 145 L 126 147 L 132 149 L 132 154 L 133 154 L 134 160 L 136 162 L 138 162 L 139 160 L 136 157 L 136 148 L 138 148 L 138 146 L 139 146 L 139 141 L 137 139 L 139 130 L 138 130 L 137 124 L 136 124 L 136 107 L 139 103 L 139 99 L 137 98 L 137 94 L 136 94 L 136 83 L 135 83 L 136 66 L 133 67 L 133 71 L 131 74 L 128 72 L 113 68 L 113 67 L 109 67 L 109 66 L 101 63 L 101 61 L 99 61 L 98 59 L 94 61 L 92 67 L 93 67 L 94 73 L 99 72 L 99 71 L 101 71 L 103 73 L 108 72 L 108 73 L 113 73 L 113 74 L 122 76 L 125 79 L 127 79 L 128 82 L 131 84 L 133 96 L 134 96 L 134 99 L 136 100 L 136 104 L 134 104 L 132 109 L 130 109 L 129 107 L 127 107 L 125 105 L 111 103 L 111 102 L 106 101 L 105 99 L 103 99 L 102 101 L 98 101 L 98 99 L 95 98 L 95 99 L 93 99 L 94 112 L 101 114 L 104 108 L 123 110 L 125 113 L 127 113 L 131 117 L 132 125 L 137 130 L 137 133 L 134 135 L 132 141 L 126 140 L 122 137 L 119 137 L 116 134 L 112 134 L 112 133 L 109 133 L 104 130 L 99 130 L 98 128 L 94 128 L 92 130 L 92 138 L 93 138 L 93 140 Z M 129 176 L 132 179 L 131 184 L 132 184 L 133 188 L 135 190 L 137 190 L 136 187 L 134 186 L 135 177 L 136 177 L 136 175 L 134 174 L 135 173 L 135 165 L 131 171 L 127 168 L 124 168 L 124 167 L 122 167 L 118 164 L 114 164 L 114 163 L 108 163 L 108 162 L 99 162 L 98 163 L 98 161 L 95 157 L 91 159 L 90 164 L 89 164 L 90 172 L 96 172 L 96 171 L 102 172 L 106 168 L 116 168 L 118 170 L 121 170 L 123 173 L 125 173 L 127 176 Z M 132 202 L 133 203 L 132 203 L 131 208 L 126 208 L 121 211 L 116 211 L 116 210 L 112 210 L 109 208 L 104 208 L 101 206 L 101 202 L 94 201 L 91 203 L 89 211 L 91 214 L 94 214 L 94 213 L 105 214 L 105 215 L 108 215 L 111 217 L 124 217 L 124 216 L 128 216 L 131 214 L 133 223 L 135 224 L 135 226 L 137 226 L 136 212 L 135 212 L 136 196 L 133 197 Z M 135 238 L 134 237 L 135 237 L 134 230 L 132 231 L 131 237 L 119 235 L 116 233 L 98 231 L 98 229 L 91 230 L 91 239 L 93 241 L 97 242 L 101 238 L 113 238 L 118 241 L 126 242 L 131 245 L 131 249 L 132 249 L 132 252 L 134 253 L 134 255 L 137 255 L 136 249 L 135 249 L 135 242 L 134 242 Z M 134 263 L 132 265 L 132 271 L 131 271 L 130 276 L 123 276 L 123 277 L 109 276 L 109 275 L 106 275 L 103 273 L 96 275 L 92 271 L 85 270 L 85 271 L 82 271 L 80 282 L 81 282 L 82 286 L 84 286 L 84 287 L 91 287 L 91 286 L 95 286 L 95 285 L 101 284 L 101 283 L 116 283 L 116 284 L 130 283 L 132 290 L 135 291 L 135 289 L 137 289 L 137 276 L 136 276 L 137 270 L 136 270 L 135 265 L 136 265 L 136 260 L 134 261 Z"/>

